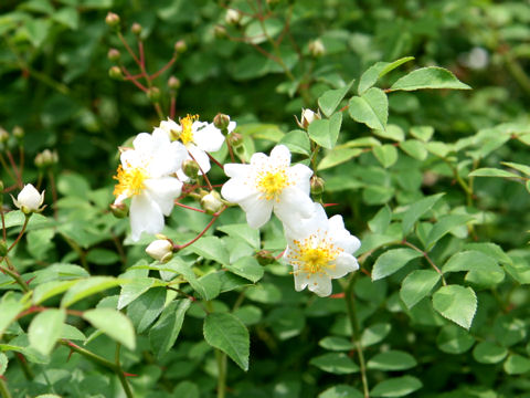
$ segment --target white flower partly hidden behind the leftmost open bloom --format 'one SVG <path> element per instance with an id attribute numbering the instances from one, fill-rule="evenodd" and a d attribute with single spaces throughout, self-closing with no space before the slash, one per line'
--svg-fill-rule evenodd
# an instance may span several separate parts
<path id="1" fill-rule="evenodd" d="M 219 128 L 206 122 L 199 122 L 198 115 L 188 115 L 180 119 L 180 125 L 171 119 L 160 123 L 155 130 L 166 132 L 172 139 L 180 139 L 188 149 L 187 159 L 193 159 L 200 167 L 199 175 L 210 171 L 208 151 L 216 151 L 224 143 L 224 136 Z M 229 133 L 235 128 L 235 122 L 229 124 Z M 182 171 L 177 172 L 182 181 L 189 177 Z"/>

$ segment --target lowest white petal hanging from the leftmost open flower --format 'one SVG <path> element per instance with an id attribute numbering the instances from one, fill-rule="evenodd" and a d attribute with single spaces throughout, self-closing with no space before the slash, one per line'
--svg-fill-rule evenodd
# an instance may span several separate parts
<path id="1" fill-rule="evenodd" d="M 130 238 L 138 241 L 142 232 L 158 233 L 163 229 L 163 214 L 147 195 L 137 195 L 130 201 Z"/>

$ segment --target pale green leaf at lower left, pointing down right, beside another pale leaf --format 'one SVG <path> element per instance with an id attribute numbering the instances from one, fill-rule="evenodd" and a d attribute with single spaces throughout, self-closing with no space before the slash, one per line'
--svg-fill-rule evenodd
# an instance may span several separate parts
<path id="1" fill-rule="evenodd" d="M 92 326 L 105 333 L 129 349 L 136 347 L 135 326 L 130 320 L 117 310 L 96 308 L 83 313 Z"/>

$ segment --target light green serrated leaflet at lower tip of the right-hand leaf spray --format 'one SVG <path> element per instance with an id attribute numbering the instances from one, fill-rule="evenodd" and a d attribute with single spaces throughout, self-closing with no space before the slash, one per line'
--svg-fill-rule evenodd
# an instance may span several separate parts
<path id="1" fill-rule="evenodd" d="M 471 287 L 442 286 L 433 294 L 433 307 L 442 316 L 469 329 L 477 312 L 477 295 Z"/>

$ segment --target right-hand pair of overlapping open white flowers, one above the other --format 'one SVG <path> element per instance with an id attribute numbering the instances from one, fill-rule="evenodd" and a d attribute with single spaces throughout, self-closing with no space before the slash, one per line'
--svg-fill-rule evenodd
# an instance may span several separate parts
<path id="1" fill-rule="evenodd" d="M 284 259 L 293 266 L 295 289 L 306 286 L 319 296 L 331 294 L 331 280 L 359 269 L 352 253 L 359 239 L 344 229 L 341 216 L 328 219 L 324 207 L 309 197 L 311 169 L 290 166 L 284 145 L 271 156 L 254 154 L 250 165 L 229 164 L 223 197 L 241 206 L 253 228 L 265 224 L 271 213 L 283 222 L 287 249 Z"/>

